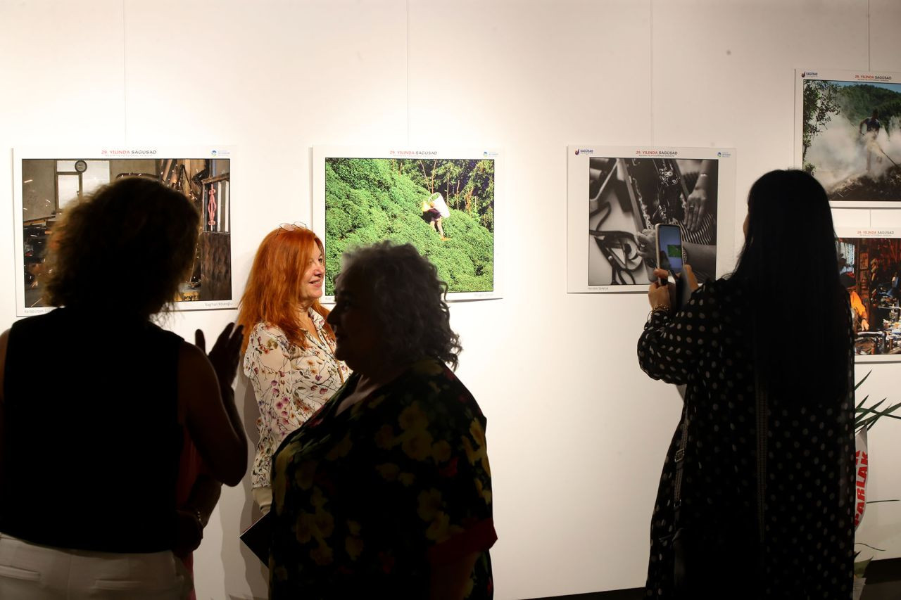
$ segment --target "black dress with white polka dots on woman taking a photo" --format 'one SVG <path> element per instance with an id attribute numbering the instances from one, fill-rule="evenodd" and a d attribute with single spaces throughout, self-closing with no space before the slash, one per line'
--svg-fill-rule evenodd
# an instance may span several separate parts
<path id="1" fill-rule="evenodd" d="M 756 564 L 760 553 L 754 348 L 752 319 L 743 304 L 748 297 L 729 279 L 709 282 L 675 316 L 653 313 L 638 342 L 642 370 L 655 379 L 687 385 L 680 522 L 694 531 L 728 532 L 725 537 L 732 549 L 709 549 L 702 560 L 715 572 L 738 563 L 743 574 L 731 583 L 717 581 L 713 573 L 702 577 L 711 582 L 704 597 L 851 598 L 853 357 L 849 354 L 848 394 L 787 402 L 778 390 L 768 392 L 761 574 Z M 786 343 L 796 342 L 787 336 Z M 803 345 L 796 345 L 801 351 Z M 674 424 L 651 520 L 645 589 L 649 598 L 679 597 L 673 590 L 667 538 L 678 527 L 673 481 L 681 431 L 680 423 Z"/>

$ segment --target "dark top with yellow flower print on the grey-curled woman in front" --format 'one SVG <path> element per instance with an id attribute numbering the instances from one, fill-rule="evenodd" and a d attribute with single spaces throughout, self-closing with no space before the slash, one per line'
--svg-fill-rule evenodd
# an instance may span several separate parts
<path id="1" fill-rule="evenodd" d="M 358 381 L 276 453 L 270 597 L 427 598 L 433 566 L 473 553 L 465 597 L 492 597 L 497 536 L 475 398 L 425 359 L 336 414 Z"/>

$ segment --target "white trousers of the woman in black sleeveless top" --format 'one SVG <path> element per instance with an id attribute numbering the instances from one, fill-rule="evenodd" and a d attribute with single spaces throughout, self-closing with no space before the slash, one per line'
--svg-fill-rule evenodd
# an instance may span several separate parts
<path id="1" fill-rule="evenodd" d="M 149 554 L 66 550 L 0 533 L 0 598 L 177 600 L 190 589 L 180 565 L 168 550 Z"/>

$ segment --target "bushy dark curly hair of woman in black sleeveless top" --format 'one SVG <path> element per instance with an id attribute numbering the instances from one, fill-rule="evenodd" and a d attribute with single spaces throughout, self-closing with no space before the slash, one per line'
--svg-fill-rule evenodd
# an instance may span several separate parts
<path id="1" fill-rule="evenodd" d="M 116 312 L 149 318 L 175 299 L 194 262 L 200 214 L 177 191 L 124 177 L 68 209 L 53 230 L 44 301 L 99 303 L 116 282 Z M 108 308 L 108 307 L 105 307 Z"/>

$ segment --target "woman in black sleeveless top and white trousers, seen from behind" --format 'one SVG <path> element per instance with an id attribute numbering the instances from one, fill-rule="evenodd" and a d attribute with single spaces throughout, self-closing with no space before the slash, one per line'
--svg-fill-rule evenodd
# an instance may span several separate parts
<path id="1" fill-rule="evenodd" d="M 184 195 L 138 177 L 55 229 L 44 295 L 58 308 L 0 336 L 0 597 L 183 593 L 171 551 L 182 428 L 219 481 L 236 485 L 247 461 L 231 389 L 240 330 L 207 359 L 202 334 L 198 348 L 150 321 L 198 230 Z"/>

